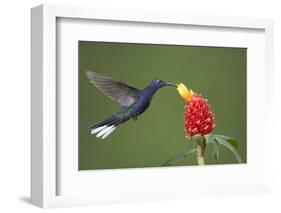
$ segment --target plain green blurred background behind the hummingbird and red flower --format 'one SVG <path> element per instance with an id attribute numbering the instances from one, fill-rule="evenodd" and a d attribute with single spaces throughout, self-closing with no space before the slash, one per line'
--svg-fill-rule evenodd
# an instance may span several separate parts
<path id="1" fill-rule="evenodd" d="M 237 139 L 246 162 L 246 55 L 245 48 L 79 42 L 79 170 L 157 167 L 185 148 L 184 101 L 173 87 L 154 96 L 138 121 L 130 120 L 105 140 L 87 127 L 117 111 L 119 106 L 98 91 L 85 75 L 93 70 L 136 88 L 151 79 L 186 84 L 208 99 L 215 114 L 213 133 Z M 215 164 L 207 146 L 206 164 Z M 237 163 L 220 147 L 220 164 Z M 194 165 L 189 156 L 176 165 Z"/>

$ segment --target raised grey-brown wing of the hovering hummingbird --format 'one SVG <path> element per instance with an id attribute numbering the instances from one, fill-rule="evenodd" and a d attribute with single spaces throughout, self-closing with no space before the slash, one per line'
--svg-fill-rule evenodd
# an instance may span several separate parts
<path id="1" fill-rule="evenodd" d="M 131 106 L 138 98 L 137 88 L 93 71 L 86 71 L 86 75 L 96 88 L 110 99 L 117 101 L 122 107 Z"/>

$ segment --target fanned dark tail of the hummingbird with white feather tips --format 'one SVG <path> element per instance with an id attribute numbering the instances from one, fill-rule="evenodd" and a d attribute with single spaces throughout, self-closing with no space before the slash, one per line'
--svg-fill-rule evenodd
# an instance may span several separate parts
<path id="1" fill-rule="evenodd" d="M 105 139 L 116 129 L 119 124 L 124 123 L 129 119 L 130 117 L 120 117 L 113 115 L 104 121 L 93 124 L 89 127 L 89 130 L 91 131 L 92 135 L 96 134 L 97 138 Z"/>

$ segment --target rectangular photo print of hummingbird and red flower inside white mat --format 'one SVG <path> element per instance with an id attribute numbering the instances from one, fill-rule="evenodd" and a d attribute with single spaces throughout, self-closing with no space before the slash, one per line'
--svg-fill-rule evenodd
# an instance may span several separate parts
<path id="1" fill-rule="evenodd" d="M 78 46 L 79 170 L 246 163 L 246 48 Z"/>

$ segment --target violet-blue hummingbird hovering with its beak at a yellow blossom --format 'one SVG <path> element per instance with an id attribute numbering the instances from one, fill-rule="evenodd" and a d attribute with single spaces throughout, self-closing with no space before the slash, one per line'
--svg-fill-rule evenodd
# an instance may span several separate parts
<path id="1" fill-rule="evenodd" d="M 130 119 L 137 120 L 148 109 L 158 89 L 165 86 L 177 87 L 175 84 L 153 79 L 144 89 L 137 89 L 93 71 L 86 71 L 86 76 L 101 93 L 120 105 L 119 111 L 89 127 L 91 134 L 96 134 L 101 139 L 109 136 L 118 125 Z"/>

